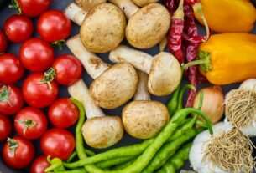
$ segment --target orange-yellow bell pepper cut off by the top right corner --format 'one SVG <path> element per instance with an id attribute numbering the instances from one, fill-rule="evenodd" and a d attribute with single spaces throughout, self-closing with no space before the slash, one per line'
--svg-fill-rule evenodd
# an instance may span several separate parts
<path id="1" fill-rule="evenodd" d="M 250 0 L 201 0 L 206 21 L 217 33 L 249 33 L 256 20 L 256 9 Z M 201 17 L 196 19 L 203 24 Z"/>

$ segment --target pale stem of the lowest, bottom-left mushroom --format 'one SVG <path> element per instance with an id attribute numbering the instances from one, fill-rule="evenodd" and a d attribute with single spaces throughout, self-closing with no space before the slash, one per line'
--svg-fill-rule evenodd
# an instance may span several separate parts
<path id="1" fill-rule="evenodd" d="M 84 105 L 87 119 L 105 116 L 102 109 L 100 109 L 97 104 L 94 103 L 91 95 L 89 94 L 88 88 L 82 79 L 69 86 L 68 92 L 72 97 Z"/>

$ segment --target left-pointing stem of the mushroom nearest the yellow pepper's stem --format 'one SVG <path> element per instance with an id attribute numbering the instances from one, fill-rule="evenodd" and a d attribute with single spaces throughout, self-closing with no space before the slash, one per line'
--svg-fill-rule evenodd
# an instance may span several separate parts
<path id="1" fill-rule="evenodd" d="M 143 53 L 138 50 L 134 50 L 133 48 L 119 45 L 110 52 L 109 59 L 113 63 L 128 62 L 133 64 L 136 69 L 149 74 L 153 57 L 148 53 Z"/>

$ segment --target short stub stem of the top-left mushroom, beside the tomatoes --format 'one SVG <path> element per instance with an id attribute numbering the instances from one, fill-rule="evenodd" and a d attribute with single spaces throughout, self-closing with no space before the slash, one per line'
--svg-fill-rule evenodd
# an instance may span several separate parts
<path id="1" fill-rule="evenodd" d="M 65 8 L 64 13 L 67 18 L 70 18 L 71 21 L 81 26 L 88 12 L 79 7 L 76 3 L 71 3 Z"/>

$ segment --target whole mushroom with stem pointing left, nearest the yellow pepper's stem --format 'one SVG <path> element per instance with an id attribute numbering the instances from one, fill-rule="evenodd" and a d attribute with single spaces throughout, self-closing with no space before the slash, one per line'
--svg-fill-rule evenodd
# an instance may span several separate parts
<path id="1" fill-rule="evenodd" d="M 161 52 L 152 59 L 147 53 L 120 45 L 110 52 L 109 59 L 116 63 L 128 62 L 149 74 L 148 89 L 151 94 L 171 94 L 180 83 L 181 67 L 170 53 Z"/>

